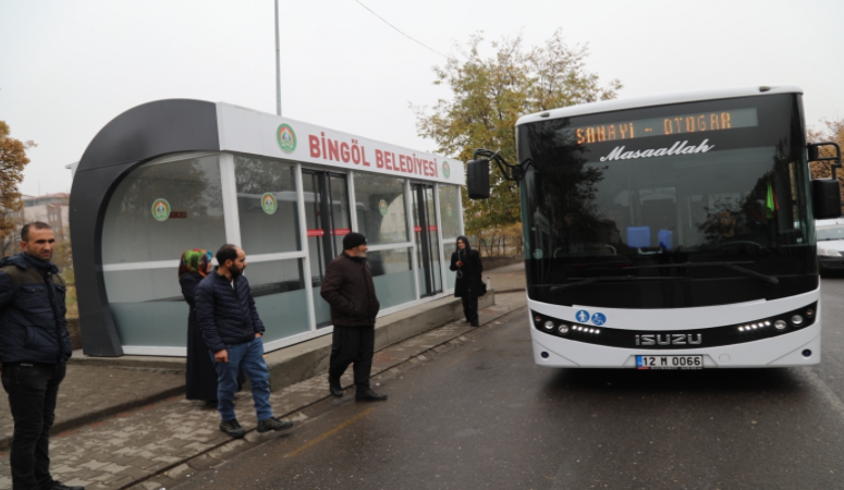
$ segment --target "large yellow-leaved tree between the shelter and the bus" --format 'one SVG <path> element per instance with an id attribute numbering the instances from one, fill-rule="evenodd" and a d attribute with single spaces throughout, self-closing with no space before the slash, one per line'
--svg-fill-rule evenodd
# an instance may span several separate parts
<path id="1" fill-rule="evenodd" d="M 491 58 L 481 56 L 484 37 L 470 38 L 461 57 L 450 57 L 443 66 L 433 69 L 435 84 L 448 85 L 452 98 L 441 99 L 432 113 L 414 108 L 420 136 L 433 139 L 438 152 L 463 161 L 472 160 L 476 148 L 500 150 L 516 163 L 515 125 L 519 117 L 577 103 L 615 98 L 619 81 L 606 87 L 598 75 L 586 71 L 586 46 L 571 47 L 561 32 L 545 47 L 525 49 L 522 38 L 492 42 Z M 504 180 L 492 166 L 491 197 L 468 199 L 462 192 L 466 234 L 480 237 L 480 232 L 521 222 L 518 186 Z"/>

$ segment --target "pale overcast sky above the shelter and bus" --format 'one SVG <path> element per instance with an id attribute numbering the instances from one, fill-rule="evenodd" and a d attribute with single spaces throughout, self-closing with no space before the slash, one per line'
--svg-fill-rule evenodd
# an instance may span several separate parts
<path id="1" fill-rule="evenodd" d="M 561 28 L 620 97 L 798 85 L 807 123 L 844 118 L 844 1 L 279 0 L 283 115 L 431 151 L 411 105 L 449 98 L 431 68 L 470 34 L 541 45 Z M 488 51 L 491 52 L 491 51 Z M 33 139 L 24 194 L 119 113 L 167 98 L 276 112 L 273 0 L 0 0 L 0 120 Z"/>

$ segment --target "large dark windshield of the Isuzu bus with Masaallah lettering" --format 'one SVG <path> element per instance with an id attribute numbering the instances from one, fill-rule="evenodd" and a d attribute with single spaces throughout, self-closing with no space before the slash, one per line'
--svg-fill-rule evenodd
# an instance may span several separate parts
<path id="1" fill-rule="evenodd" d="M 817 287 L 799 96 L 518 126 L 528 294 L 675 308 Z"/>

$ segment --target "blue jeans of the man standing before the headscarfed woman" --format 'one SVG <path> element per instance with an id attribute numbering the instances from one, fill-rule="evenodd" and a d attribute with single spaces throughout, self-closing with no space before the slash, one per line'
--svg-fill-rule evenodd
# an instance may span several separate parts
<path id="1" fill-rule="evenodd" d="M 237 391 L 237 371 L 243 369 L 252 383 L 252 399 L 258 420 L 272 417 L 270 406 L 270 371 L 264 362 L 264 340 L 255 338 L 242 344 L 227 345 L 228 363 L 215 362 L 217 369 L 217 409 L 223 420 L 234 416 L 234 392 Z M 213 353 L 211 353 L 213 359 Z"/>

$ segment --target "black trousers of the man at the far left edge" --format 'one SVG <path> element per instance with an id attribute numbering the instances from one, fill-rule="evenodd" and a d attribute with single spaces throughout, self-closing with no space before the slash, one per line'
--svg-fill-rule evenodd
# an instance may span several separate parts
<path id="1" fill-rule="evenodd" d="M 64 363 L 3 364 L 3 389 L 14 418 L 9 464 L 13 490 L 38 490 L 51 481 L 50 429 Z"/>

